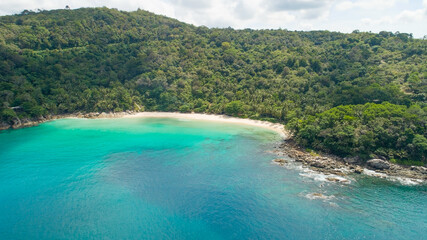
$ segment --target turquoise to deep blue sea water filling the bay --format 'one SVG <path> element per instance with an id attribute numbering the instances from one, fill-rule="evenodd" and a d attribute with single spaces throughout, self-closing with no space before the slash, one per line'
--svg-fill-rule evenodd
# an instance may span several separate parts
<path id="1" fill-rule="evenodd" d="M 272 164 L 278 141 L 153 118 L 2 131 L 0 239 L 427 239 L 425 185 L 325 182 Z"/>

